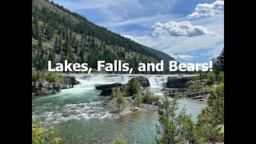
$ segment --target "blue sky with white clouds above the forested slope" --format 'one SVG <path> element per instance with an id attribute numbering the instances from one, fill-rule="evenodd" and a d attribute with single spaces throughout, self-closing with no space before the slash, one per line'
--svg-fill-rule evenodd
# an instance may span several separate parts
<path id="1" fill-rule="evenodd" d="M 224 47 L 224 0 L 53 1 L 178 62 L 209 62 Z"/>

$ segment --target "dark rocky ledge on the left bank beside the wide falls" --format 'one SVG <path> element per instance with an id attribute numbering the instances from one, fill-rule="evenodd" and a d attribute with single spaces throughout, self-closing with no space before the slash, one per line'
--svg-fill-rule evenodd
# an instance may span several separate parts
<path id="1" fill-rule="evenodd" d="M 78 82 L 74 77 L 69 76 L 61 78 L 59 82 L 32 82 L 32 96 L 55 94 L 62 89 L 73 88 L 74 85 L 78 85 L 79 83 L 80 82 Z"/>

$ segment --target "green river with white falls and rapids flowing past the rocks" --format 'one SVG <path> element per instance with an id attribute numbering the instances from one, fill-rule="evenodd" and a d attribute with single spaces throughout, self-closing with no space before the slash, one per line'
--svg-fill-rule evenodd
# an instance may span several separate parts
<path id="1" fill-rule="evenodd" d="M 124 138 L 126 143 L 154 142 L 157 112 L 138 112 L 119 116 L 112 114 L 102 106 L 104 97 L 98 96 L 99 84 L 114 82 L 126 83 L 130 75 L 114 74 L 72 74 L 81 84 L 74 88 L 61 90 L 32 99 L 32 114 L 44 128 L 59 131 L 58 137 L 65 143 L 110 142 L 115 138 Z M 150 90 L 163 96 L 161 90 L 167 82 L 167 76 L 144 75 L 150 80 Z M 196 120 L 205 104 L 190 99 L 178 100 L 185 106 L 187 113 Z"/>

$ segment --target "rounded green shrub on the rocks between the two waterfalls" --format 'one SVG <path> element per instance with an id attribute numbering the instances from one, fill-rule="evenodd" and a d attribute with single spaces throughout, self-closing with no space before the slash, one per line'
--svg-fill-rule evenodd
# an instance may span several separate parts
<path id="1" fill-rule="evenodd" d="M 131 78 L 127 83 L 127 94 L 138 94 L 139 86 L 138 78 Z"/>

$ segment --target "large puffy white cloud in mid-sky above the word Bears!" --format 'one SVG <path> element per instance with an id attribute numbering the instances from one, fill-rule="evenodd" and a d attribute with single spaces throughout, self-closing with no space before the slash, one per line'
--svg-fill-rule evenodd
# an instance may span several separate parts
<path id="1" fill-rule="evenodd" d="M 154 26 L 154 35 L 161 35 L 161 34 L 169 34 L 170 36 L 186 36 L 186 37 L 195 37 L 198 35 L 213 35 L 217 36 L 214 32 L 206 30 L 203 26 L 192 26 L 192 24 L 188 21 L 182 22 L 156 22 Z"/>

